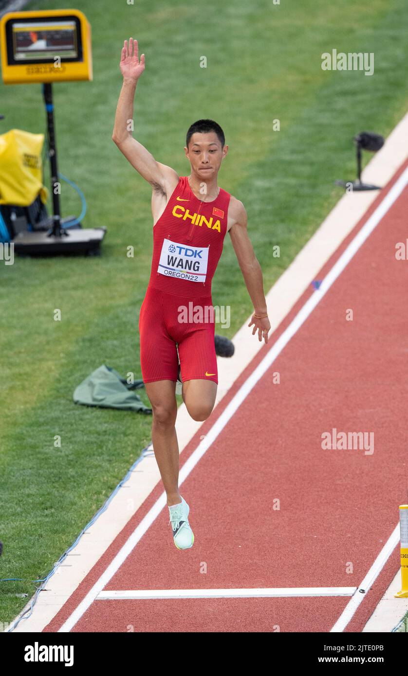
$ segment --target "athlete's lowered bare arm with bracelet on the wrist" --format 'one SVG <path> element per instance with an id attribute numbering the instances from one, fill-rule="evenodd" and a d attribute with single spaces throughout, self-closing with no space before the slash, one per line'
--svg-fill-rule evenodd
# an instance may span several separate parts
<path id="1" fill-rule="evenodd" d="M 254 247 L 248 236 L 248 216 L 246 209 L 239 199 L 231 196 L 228 210 L 228 220 L 232 221 L 231 228 L 229 228 L 229 236 L 235 255 L 237 256 L 238 264 L 240 265 L 242 276 L 248 289 L 248 293 L 254 304 L 254 314 L 267 314 L 267 301 L 263 290 L 263 276 L 260 264 L 255 256 Z M 231 222 L 230 221 L 230 222 Z M 259 319 L 252 318 L 248 327 L 254 324 L 252 335 L 258 331 L 258 338 L 260 341 L 265 339 L 268 342 L 268 333 L 271 329 L 271 324 L 267 317 Z"/>

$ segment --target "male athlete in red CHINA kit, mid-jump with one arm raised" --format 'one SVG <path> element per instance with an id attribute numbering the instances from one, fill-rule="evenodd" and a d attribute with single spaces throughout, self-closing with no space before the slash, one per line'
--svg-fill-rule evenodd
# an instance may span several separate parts
<path id="1" fill-rule="evenodd" d="M 223 130 L 212 120 L 198 120 L 187 132 L 189 176 L 179 176 L 156 162 L 128 130 L 133 120 L 137 80 L 145 69 L 137 40 L 124 41 L 120 58 L 122 89 L 116 108 L 113 141 L 131 165 L 152 185 L 153 258 L 148 288 L 139 314 L 143 383 L 152 404 L 152 443 L 162 477 L 179 549 L 189 549 L 194 534 L 189 506 L 179 493 L 179 445 L 175 430 L 175 387 L 181 366 L 182 396 L 194 420 L 206 420 L 214 408 L 218 371 L 214 348 L 211 280 L 226 233 L 240 264 L 254 305 L 248 327 L 268 342 L 271 329 L 263 276 L 248 237 L 242 202 L 217 186 L 227 155 Z M 190 308 L 194 314 L 191 317 Z M 212 313 L 211 313 L 212 310 Z M 193 319 L 191 321 L 191 318 Z"/>

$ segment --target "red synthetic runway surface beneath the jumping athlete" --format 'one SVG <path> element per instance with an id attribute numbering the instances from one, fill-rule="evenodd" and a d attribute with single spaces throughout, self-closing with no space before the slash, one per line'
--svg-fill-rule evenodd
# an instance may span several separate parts
<path id="1" fill-rule="evenodd" d="M 181 485 L 194 547 L 175 548 L 162 510 L 105 590 L 360 585 L 407 501 L 408 260 L 395 258 L 396 243 L 407 239 L 407 210 L 408 188 Z M 313 293 L 319 290 L 308 289 L 260 349 L 182 463 Z M 373 453 L 322 450 L 321 435 L 333 428 L 373 433 Z M 44 631 L 58 631 L 70 617 L 161 493 L 160 482 Z M 345 631 L 363 629 L 398 569 L 396 547 Z M 349 600 L 96 600 L 72 631 L 327 632 Z"/>

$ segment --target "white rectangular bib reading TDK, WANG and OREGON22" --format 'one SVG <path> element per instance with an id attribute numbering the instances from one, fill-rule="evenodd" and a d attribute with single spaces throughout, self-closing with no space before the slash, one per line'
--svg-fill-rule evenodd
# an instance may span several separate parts
<path id="1" fill-rule="evenodd" d="M 164 239 L 157 271 L 167 277 L 205 282 L 210 247 L 187 247 L 171 239 Z"/>

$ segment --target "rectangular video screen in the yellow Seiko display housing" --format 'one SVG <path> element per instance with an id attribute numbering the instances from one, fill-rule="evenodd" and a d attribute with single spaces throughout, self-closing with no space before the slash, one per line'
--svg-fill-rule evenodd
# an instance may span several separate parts
<path id="1" fill-rule="evenodd" d="M 16 64 L 54 55 L 78 59 L 76 21 L 12 22 L 12 45 Z"/>

